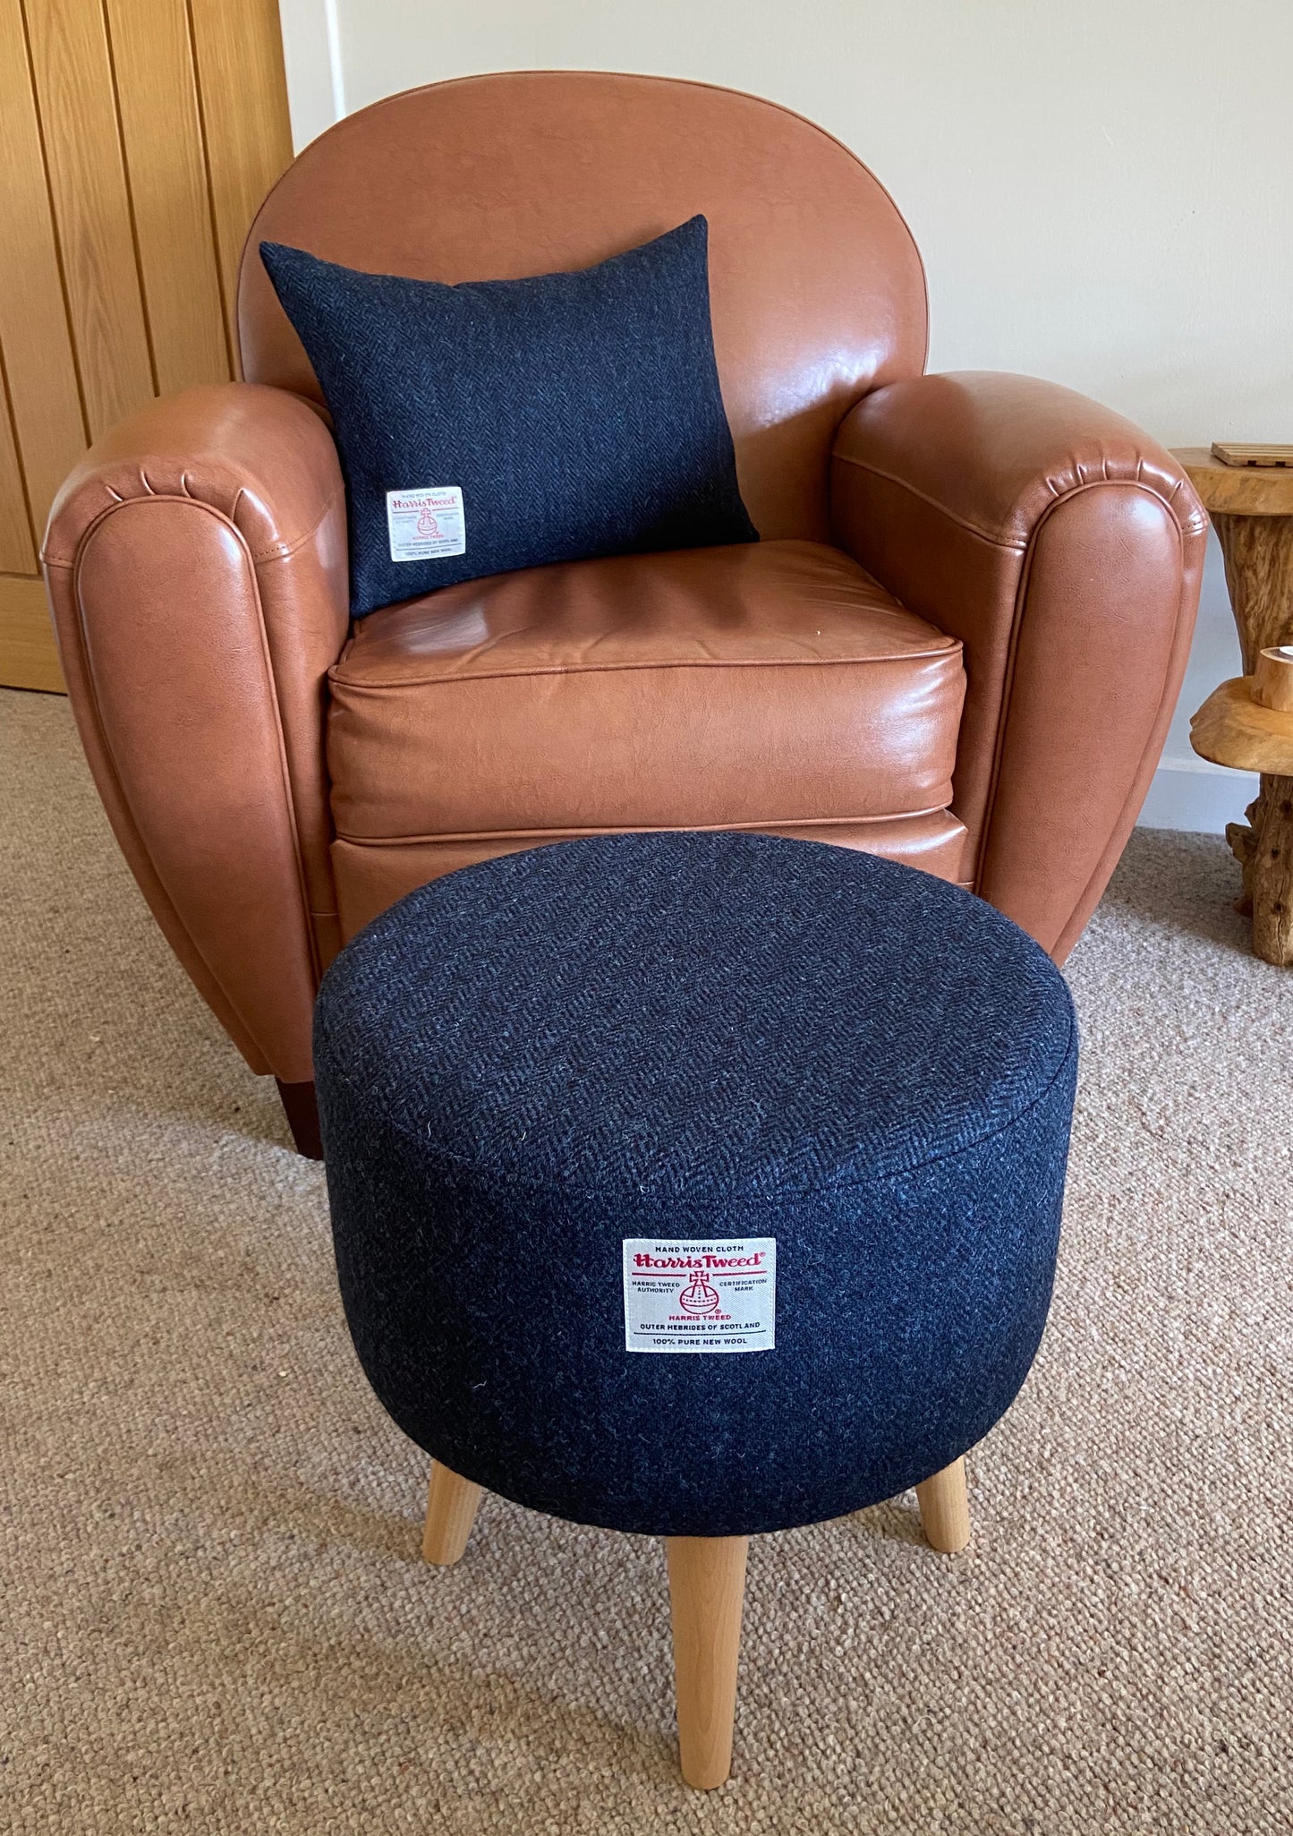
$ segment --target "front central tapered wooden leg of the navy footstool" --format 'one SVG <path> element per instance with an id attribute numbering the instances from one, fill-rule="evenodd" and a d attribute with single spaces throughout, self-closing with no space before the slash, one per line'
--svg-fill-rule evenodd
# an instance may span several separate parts
<path id="1" fill-rule="evenodd" d="M 699 1792 L 732 1770 L 735 1663 L 748 1537 L 666 1537 L 682 1777 Z"/>

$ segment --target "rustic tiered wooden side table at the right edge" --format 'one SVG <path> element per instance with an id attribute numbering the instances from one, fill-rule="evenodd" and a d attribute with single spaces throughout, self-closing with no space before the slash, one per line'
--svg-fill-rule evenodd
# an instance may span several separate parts
<path id="1" fill-rule="evenodd" d="M 1293 468 L 1225 465 L 1203 446 L 1176 457 L 1221 543 L 1243 657 L 1243 676 L 1221 683 L 1194 716 L 1190 744 L 1218 766 L 1262 775 L 1247 823 L 1229 823 L 1225 839 L 1243 868 L 1238 909 L 1253 914 L 1253 949 L 1293 964 L 1293 711 L 1269 688 L 1293 674 L 1293 661 L 1286 668 L 1267 655 L 1265 687 L 1253 694 L 1262 652 L 1293 644 Z"/>

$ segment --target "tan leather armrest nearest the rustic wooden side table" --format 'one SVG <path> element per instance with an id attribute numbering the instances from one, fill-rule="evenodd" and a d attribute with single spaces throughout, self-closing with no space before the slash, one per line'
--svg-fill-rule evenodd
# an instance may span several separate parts
<path id="1" fill-rule="evenodd" d="M 831 461 L 836 542 L 965 644 L 954 810 L 976 890 L 1064 960 L 1157 766 L 1207 518 L 1121 415 L 1033 376 L 864 397 Z"/>

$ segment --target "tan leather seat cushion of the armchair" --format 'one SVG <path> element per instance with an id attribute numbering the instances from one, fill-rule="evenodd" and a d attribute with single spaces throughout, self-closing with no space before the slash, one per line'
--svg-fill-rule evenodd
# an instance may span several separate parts
<path id="1" fill-rule="evenodd" d="M 763 542 L 389 606 L 330 685 L 337 837 L 394 841 L 943 810 L 965 670 L 840 551 Z"/>

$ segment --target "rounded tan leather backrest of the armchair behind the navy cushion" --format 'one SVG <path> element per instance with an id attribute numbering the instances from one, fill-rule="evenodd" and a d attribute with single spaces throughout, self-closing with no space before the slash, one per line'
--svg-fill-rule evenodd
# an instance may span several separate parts
<path id="1" fill-rule="evenodd" d="M 840 141 L 735 90 L 512 72 L 348 116 L 288 167 L 251 226 L 244 375 L 321 398 L 262 239 L 376 274 L 486 281 L 585 268 L 697 211 L 746 507 L 765 538 L 827 540 L 840 419 L 924 367 L 924 270 L 893 200 Z"/>

